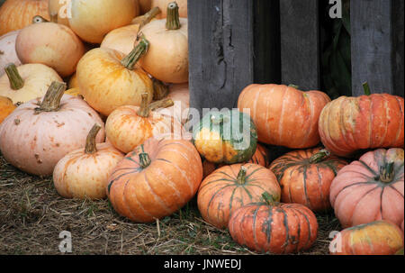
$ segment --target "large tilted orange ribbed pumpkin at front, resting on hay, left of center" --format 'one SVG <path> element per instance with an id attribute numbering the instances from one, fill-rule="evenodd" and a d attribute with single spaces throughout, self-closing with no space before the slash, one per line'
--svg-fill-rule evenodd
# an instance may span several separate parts
<path id="1" fill-rule="evenodd" d="M 201 158 L 190 141 L 150 138 L 114 168 L 107 195 L 118 214 L 149 223 L 188 203 L 201 181 Z"/>

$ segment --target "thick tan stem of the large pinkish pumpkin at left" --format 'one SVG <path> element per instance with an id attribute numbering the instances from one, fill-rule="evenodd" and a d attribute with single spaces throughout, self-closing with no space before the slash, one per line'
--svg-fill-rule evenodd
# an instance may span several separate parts
<path id="1" fill-rule="evenodd" d="M 60 107 L 60 100 L 66 91 L 66 83 L 54 81 L 49 86 L 47 94 L 45 94 L 40 107 L 35 108 L 35 114 L 41 112 L 54 112 L 58 111 Z"/>

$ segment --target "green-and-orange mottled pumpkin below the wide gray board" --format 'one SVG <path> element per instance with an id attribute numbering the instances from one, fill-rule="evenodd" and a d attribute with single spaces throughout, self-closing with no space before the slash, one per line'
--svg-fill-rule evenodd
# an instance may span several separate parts
<path id="1" fill-rule="evenodd" d="M 257 149 L 256 126 L 238 110 L 212 110 L 194 126 L 193 143 L 202 157 L 212 163 L 246 162 Z"/>

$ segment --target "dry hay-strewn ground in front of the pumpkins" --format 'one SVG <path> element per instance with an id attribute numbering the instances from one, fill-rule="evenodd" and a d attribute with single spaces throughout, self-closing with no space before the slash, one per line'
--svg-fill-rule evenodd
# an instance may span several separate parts
<path id="1" fill-rule="evenodd" d="M 301 254 L 328 254 L 333 214 L 319 215 L 319 237 Z M 68 200 L 51 178 L 32 177 L 0 155 L 0 254 L 60 254 L 59 232 L 72 233 L 72 254 L 256 254 L 205 223 L 195 200 L 153 224 L 130 223 L 108 200 Z"/>

